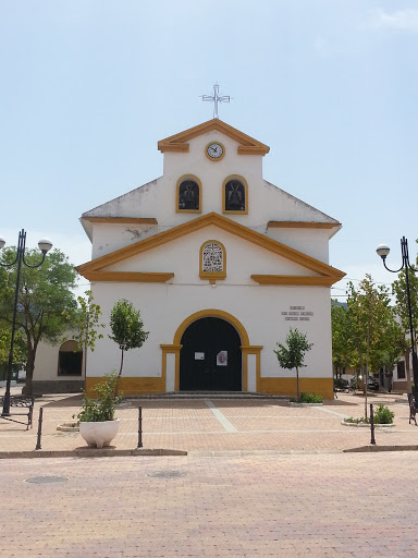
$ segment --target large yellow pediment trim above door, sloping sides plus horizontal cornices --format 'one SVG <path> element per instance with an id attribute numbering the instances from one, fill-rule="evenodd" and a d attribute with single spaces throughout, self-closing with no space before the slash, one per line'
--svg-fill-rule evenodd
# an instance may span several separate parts
<path id="1" fill-rule="evenodd" d="M 236 221 L 233 221 L 222 215 L 217 213 L 211 213 L 198 217 L 197 219 L 192 219 L 185 223 L 179 225 L 177 227 L 173 227 L 168 231 L 160 232 L 152 236 L 148 236 L 144 240 L 140 240 L 134 244 L 128 246 L 124 246 L 123 248 L 116 250 L 107 254 L 104 256 L 100 256 L 91 262 L 83 264 L 77 267 L 77 271 L 89 280 L 120 280 L 120 281 L 167 281 L 173 274 L 168 271 L 165 274 L 128 274 L 121 272 L 119 275 L 118 271 L 109 275 L 109 267 L 114 266 L 125 259 L 137 256 L 144 252 L 152 251 L 163 244 L 173 242 L 182 236 L 187 234 L 193 234 L 205 227 L 216 226 L 221 230 L 224 230 L 229 233 L 236 235 L 247 242 L 250 242 L 257 246 L 260 246 L 273 254 L 282 256 L 290 262 L 298 264 L 314 274 L 317 274 L 317 277 L 311 277 L 311 282 L 307 283 L 308 278 L 304 278 L 304 283 L 298 283 L 297 280 L 293 281 L 292 284 L 333 284 L 336 281 L 340 281 L 344 277 L 344 272 L 335 269 L 334 267 L 320 262 L 307 254 L 304 254 L 295 248 L 292 248 L 281 242 L 278 242 L 265 234 L 260 234 L 259 232 L 254 231 L 253 229 L 248 229 L 247 227 L 239 225 Z M 100 277 L 100 275 L 102 276 Z M 319 276 L 319 277 L 318 277 Z M 107 277 L 107 279 L 104 279 Z M 251 276 L 255 281 L 265 284 L 286 284 L 286 276 L 266 276 L 266 275 L 254 275 Z M 295 276 L 293 276 L 293 280 Z M 287 282 L 288 284 L 288 282 Z"/>

